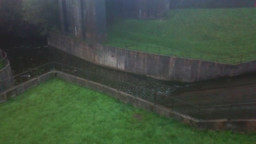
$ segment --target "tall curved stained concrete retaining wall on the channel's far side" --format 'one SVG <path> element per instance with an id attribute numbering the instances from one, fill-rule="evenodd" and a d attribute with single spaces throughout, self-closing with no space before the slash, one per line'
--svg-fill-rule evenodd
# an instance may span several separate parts
<path id="1" fill-rule="evenodd" d="M 98 44 L 89 45 L 54 33 L 49 34 L 48 44 L 85 61 L 159 80 L 195 82 L 256 71 L 256 61 L 230 65 L 162 56 Z"/>

